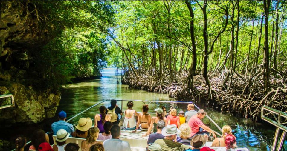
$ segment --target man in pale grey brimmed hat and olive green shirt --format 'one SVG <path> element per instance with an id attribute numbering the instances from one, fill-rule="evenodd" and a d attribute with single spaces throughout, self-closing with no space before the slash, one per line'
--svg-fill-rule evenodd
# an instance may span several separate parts
<path id="1" fill-rule="evenodd" d="M 191 147 L 175 142 L 176 135 L 180 131 L 176 128 L 176 125 L 167 125 L 161 131 L 162 135 L 165 136 L 164 139 L 157 139 L 155 141 L 156 144 L 161 146 L 161 150 L 163 151 L 185 151 L 191 149 Z"/>

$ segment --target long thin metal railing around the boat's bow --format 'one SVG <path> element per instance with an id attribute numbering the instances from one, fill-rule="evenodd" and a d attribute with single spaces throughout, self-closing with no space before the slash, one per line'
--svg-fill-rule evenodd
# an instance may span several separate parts
<path id="1" fill-rule="evenodd" d="M 108 99 L 108 100 L 104 100 L 104 101 L 101 101 L 101 102 L 99 102 L 99 103 L 96 103 L 96 104 L 92 105 L 91 107 L 88 107 L 86 110 L 83 110 L 82 112 L 80 112 L 80 113 L 74 115 L 73 117 L 69 118 L 66 122 L 71 121 L 72 119 L 76 118 L 77 116 L 81 115 L 82 113 L 84 113 L 84 112 L 90 110 L 91 108 L 93 108 L 93 107 L 95 107 L 95 106 L 97 106 L 97 105 L 99 105 L 99 104 L 101 104 L 101 103 L 103 103 L 103 102 L 111 101 L 111 100 L 112 100 L 112 99 Z M 157 102 L 157 103 L 171 103 L 171 104 L 172 104 L 172 107 L 173 107 L 174 104 L 190 104 L 190 103 L 192 103 L 192 104 L 194 105 L 194 107 L 196 107 L 198 110 L 200 110 L 200 108 L 197 107 L 193 102 L 179 102 L 179 101 L 142 101 L 142 100 L 116 100 L 116 101 L 121 101 L 121 110 L 123 110 L 123 101 L 138 101 L 138 102 L 143 102 L 144 104 L 147 103 L 148 105 L 149 105 L 150 103 L 154 103 L 154 102 Z M 151 114 L 155 114 L 155 113 L 151 113 Z M 220 131 L 222 131 L 221 128 L 220 128 L 208 115 L 205 115 L 205 116 L 206 116 Z M 92 119 L 92 120 L 93 120 L 93 119 Z M 75 126 L 75 125 L 77 125 L 77 124 L 73 124 L 73 126 Z M 222 137 L 222 135 L 219 134 L 218 132 L 216 132 L 216 131 L 214 131 L 214 130 L 212 130 L 212 131 L 215 132 L 217 135 L 219 135 L 219 136 Z M 51 133 L 53 133 L 53 131 L 47 132 L 46 134 L 51 134 Z M 31 141 L 27 142 L 26 145 L 28 145 L 28 144 L 30 144 L 30 143 L 31 143 Z M 15 149 L 14 149 L 14 150 L 11 150 L 11 151 L 15 151 Z"/>

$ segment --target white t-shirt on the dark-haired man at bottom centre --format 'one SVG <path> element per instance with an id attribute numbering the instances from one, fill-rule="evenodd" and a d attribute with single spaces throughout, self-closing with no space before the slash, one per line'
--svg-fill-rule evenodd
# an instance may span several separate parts
<path id="1" fill-rule="evenodd" d="M 103 143 L 105 151 L 131 151 L 131 146 L 128 142 L 120 139 L 107 139 Z"/>

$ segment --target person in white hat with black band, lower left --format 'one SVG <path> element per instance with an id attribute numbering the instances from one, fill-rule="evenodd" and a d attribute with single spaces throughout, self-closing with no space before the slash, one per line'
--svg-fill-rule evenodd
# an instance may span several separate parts
<path id="1" fill-rule="evenodd" d="M 66 140 L 68 139 L 68 137 L 70 136 L 70 134 L 64 130 L 64 129 L 60 129 L 57 132 L 57 138 L 56 138 L 56 144 L 53 145 L 53 149 L 54 151 L 65 151 L 65 146 L 66 144 Z"/>

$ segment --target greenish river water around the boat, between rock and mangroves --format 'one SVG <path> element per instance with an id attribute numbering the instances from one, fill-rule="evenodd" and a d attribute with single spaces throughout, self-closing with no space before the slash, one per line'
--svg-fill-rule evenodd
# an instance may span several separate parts
<path id="1" fill-rule="evenodd" d="M 60 101 L 57 112 L 64 110 L 67 112 L 67 119 L 73 117 L 77 113 L 85 110 L 86 108 L 106 99 L 131 99 L 131 100 L 147 100 L 147 101 L 174 101 L 175 99 L 169 98 L 168 94 L 159 94 L 147 92 L 144 90 L 131 89 L 128 85 L 117 84 L 115 70 L 113 68 L 104 69 L 102 72 L 103 77 L 98 80 L 87 80 L 75 84 L 69 84 L 64 88 L 62 92 L 62 99 Z M 125 110 L 127 101 L 123 102 L 123 110 Z M 117 102 L 121 108 L 121 102 Z M 110 101 L 101 103 L 109 107 Z M 82 115 L 71 120 L 70 123 L 77 123 L 81 117 L 94 118 L 94 115 L 99 113 L 100 105 L 88 110 Z M 156 107 L 165 105 L 169 110 L 169 104 L 151 104 L 150 112 Z M 133 109 L 141 112 L 143 106 L 142 102 L 134 102 Z M 202 107 L 198 104 L 200 108 Z M 186 111 L 186 105 L 179 105 L 177 108 L 181 108 Z M 222 127 L 228 124 L 233 129 L 233 133 L 236 136 L 237 146 L 248 147 L 249 150 L 270 150 L 274 137 L 275 127 L 267 123 L 254 123 L 249 119 L 234 117 L 229 114 L 221 114 L 218 111 L 210 108 L 204 108 L 207 114 Z M 204 123 L 210 126 L 213 130 L 219 132 L 215 125 L 213 125 L 207 118 L 204 118 Z M 220 132 L 221 133 L 221 132 Z M 287 142 L 285 141 L 285 148 L 287 148 Z M 284 149 L 283 149 L 284 150 Z"/>

